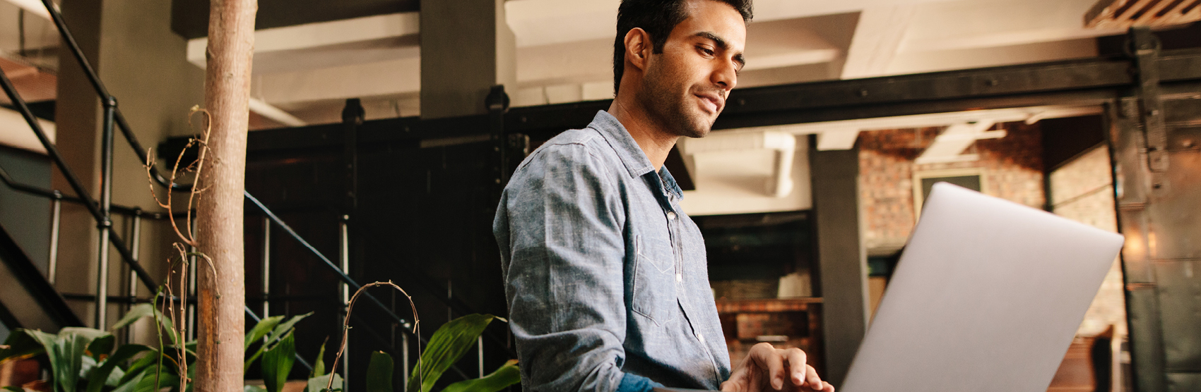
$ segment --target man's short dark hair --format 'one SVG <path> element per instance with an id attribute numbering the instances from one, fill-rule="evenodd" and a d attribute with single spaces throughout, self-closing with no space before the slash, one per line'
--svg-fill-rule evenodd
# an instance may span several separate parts
<path id="1" fill-rule="evenodd" d="M 668 36 L 677 24 L 688 19 L 687 0 L 622 0 L 617 7 L 617 37 L 613 42 L 613 94 L 617 95 L 621 76 L 626 71 L 626 34 L 641 28 L 651 35 L 651 50 L 663 53 Z M 728 4 L 751 22 L 751 0 L 712 0 Z"/>

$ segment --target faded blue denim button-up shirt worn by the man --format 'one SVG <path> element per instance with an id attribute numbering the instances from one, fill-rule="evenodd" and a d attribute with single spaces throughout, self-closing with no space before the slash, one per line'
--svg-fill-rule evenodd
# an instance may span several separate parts
<path id="1" fill-rule="evenodd" d="M 729 376 L 681 197 L 607 111 L 518 167 L 492 231 L 526 391 L 716 390 Z"/>

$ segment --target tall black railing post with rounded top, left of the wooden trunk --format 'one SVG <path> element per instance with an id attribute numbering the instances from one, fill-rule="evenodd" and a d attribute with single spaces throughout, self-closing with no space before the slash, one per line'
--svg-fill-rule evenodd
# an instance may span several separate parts
<path id="1" fill-rule="evenodd" d="M 113 205 L 113 121 L 116 113 L 116 98 L 106 96 L 104 125 L 100 150 L 100 260 L 96 267 L 96 319 L 97 330 L 108 328 L 108 236 L 113 229 L 110 209 Z"/>

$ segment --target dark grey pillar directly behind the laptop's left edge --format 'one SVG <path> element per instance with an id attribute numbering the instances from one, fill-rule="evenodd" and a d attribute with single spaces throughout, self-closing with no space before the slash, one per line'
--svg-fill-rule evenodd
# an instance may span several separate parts
<path id="1" fill-rule="evenodd" d="M 859 213 L 859 149 L 809 151 L 821 276 L 823 379 L 841 386 L 867 331 L 867 259 Z"/>

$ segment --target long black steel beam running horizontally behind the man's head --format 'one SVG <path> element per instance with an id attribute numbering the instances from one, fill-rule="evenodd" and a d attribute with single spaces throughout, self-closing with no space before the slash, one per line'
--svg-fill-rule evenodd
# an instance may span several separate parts
<path id="1" fill-rule="evenodd" d="M 1175 84 L 1201 82 L 1201 50 L 1164 52 L 1157 60 L 1165 91 Z M 1128 58 L 1095 58 L 921 74 L 800 83 L 737 89 L 715 129 L 815 121 L 946 113 L 1051 103 L 1100 104 L 1137 86 Z M 504 115 L 509 133 L 554 134 L 586 126 L 610 99 L 512 108 Z M 340 123 L 252 132 L 250 153 L 297 149 L 339 149 Z M 400 117 L 364 121 L 360 146 L 417 143 L 423 139 L 488 134 L 488 115 L 422 120 Z M 162 150 L 172 153 L 168 140 Z M 178 153 L 178 147 L 174 149 Z"/>

